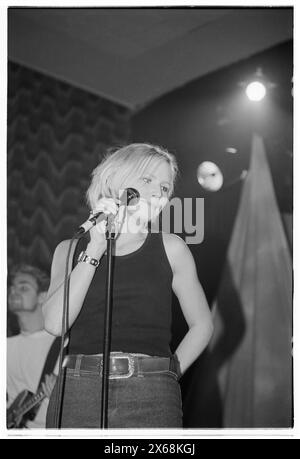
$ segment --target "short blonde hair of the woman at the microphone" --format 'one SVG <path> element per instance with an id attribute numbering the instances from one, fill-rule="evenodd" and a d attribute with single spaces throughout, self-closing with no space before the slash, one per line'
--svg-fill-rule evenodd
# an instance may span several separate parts
<path id="1" fill-rule="evenodd" d="M 108 150 L 101 163 L 92 172 L 87 190 L 87 201 L 93 209 L 102 197 L 119 197 L 123 183 L 131 177 L 140 177 L 155 162 L 166 161 L 172 173 L 169 197 L 173 193 L 178 166 L 175 156 L 166 149 L 148 143 L 132 143 L 117 150 Z"/>

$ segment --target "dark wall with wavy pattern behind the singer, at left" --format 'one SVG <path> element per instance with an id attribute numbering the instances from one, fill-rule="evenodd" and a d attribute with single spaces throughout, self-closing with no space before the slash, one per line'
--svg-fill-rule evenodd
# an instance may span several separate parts
<path id="1" fill-rule="evenodd" d="M 128 109 L 8 65 L 8 265 L 49 269 L 87 217 L 85 190 L 107 146 L 126 143 Z"/>

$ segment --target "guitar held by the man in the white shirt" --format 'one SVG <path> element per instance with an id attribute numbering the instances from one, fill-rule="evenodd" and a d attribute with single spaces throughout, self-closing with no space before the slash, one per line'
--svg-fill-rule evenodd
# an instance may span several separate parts
<path id="1" fill-rule="evenodd" d="M 28 420 L 35 417 L 36 412 L 33 410 L 46 397 L 43 390 L 36 394 L 28 390 L 23 390 L 17 395 L 10 407 L 6 410 L 6 425 L 8 429 L 22 429 L 26 426 Z"/>

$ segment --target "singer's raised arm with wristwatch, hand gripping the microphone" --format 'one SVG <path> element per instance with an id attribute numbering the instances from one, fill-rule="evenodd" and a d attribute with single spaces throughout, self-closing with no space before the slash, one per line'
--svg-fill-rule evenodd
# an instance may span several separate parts
<path id="1" fill-rule="evenodd" d="M 100 260 L 102 257 L 106 244 L 105 239 L 102 243 L 99 241 L 91 241 L 87 248 L 86 253 L 92 257 Z M 62 312 L 63 312 L 63 298 L 64 298 L 64 277 L 67 252 L 69 248 L 69 241 L 62 241 L 56 248 L 53 256 L 51 267 L 51 281 L 47 294 L 47 299 L 43 305 L 44 314 L 44 327 L 52 335 L 61 335 L 62 325 Z M 72 260 L 74 250 L 70 256 L 69 266 L 69 317 L 68 326 L 71 327 L 77 318 L 86 293 L 89 289 L 91 281 L 94 277 L 96 268 L 89 263 L 77 263 L 72 270 Z M 101 269 L 101 266 L 99 268 Z"/>

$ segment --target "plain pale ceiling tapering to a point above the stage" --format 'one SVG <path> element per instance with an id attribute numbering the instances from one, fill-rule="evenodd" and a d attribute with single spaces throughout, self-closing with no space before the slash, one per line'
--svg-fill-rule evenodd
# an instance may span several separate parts
<path id="1" fill-rule="evenodd" d="M 134 110 L 292 38 L 292 8 L 8 9 L 10 60 Z"/>

